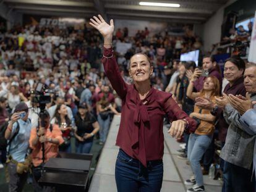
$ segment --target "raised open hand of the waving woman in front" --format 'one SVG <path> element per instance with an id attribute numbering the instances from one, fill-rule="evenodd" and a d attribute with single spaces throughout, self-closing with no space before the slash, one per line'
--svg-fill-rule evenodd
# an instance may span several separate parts
<path id="1" fill-rule="evenodd" d="M 100 31 L 103 38 L 111 38 L 112 41 L 112 36 L 114 32 L 113 19 L 110 20 L 110 25 L 105 22 L 101 15 L 98 15 L 98 17 L 93 16 L 93 19 L 90 19 L 90 21 L 90 25 L 96 28 L 96 30 Z"/>

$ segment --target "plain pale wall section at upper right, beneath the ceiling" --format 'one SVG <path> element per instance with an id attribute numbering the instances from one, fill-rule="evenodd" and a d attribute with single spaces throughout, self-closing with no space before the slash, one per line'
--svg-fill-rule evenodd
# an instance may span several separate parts
<path id="1" fill-rule="evenodd" d="M 223 7 L 216 11 L 203 25 L 203 49 L 211 51 L 211 46 L 221 40 L 221 24 L 223 22 L 224 8 L 237 0 L 228 1 Z"/>

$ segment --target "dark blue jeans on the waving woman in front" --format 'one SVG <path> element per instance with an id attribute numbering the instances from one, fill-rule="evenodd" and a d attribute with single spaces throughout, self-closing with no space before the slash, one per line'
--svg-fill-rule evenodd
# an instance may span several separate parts
<path id="1" fill-rule="evenodd" d="M 148 161 L 144 167 L 120 149 L 115 176 L 118 192 L 158 192 L 163 182 L 163 161 Z"/>

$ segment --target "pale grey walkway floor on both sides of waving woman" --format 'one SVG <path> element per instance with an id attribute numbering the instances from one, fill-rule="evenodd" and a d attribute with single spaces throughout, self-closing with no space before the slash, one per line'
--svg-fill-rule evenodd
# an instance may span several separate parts
<path id="1" fill-rule="evenodd" d="M 119 148 L 115 146 L 116 135 L 119 128 L 120 117 L 115 116 L 111 123 L 108 139 L 101 153 L 98 165 L 93 175 L 90 185 L 90 192 L 114 192 L 116 183 L 114 180 L 114 165 Z M 164 127 L 164 176 L 162 192 L 184 192 L 187 190 L 184 180 L 192 175 L 190 165 L 186 160 L 178 159 L 176 150 L 179 149 L 179 143 L 167 133 L 168 129 Z M 221 191 L 222 183 L 218 180 L 212 180 L 204 176 L 205 191 Z M 189 186 L 191 187 L 191 186 Z"/>

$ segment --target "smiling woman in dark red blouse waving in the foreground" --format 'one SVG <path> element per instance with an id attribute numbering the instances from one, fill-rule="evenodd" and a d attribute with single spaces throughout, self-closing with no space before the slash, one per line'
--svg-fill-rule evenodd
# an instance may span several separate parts
<path id="1" fill-rule="evenodd" d="M 104 38 L 103 65 L 111 85 L 122 99 L 122 114 L 116 144 L 117 191 L 160 191 L 163 182 L 163 119 L 173 120 L 171 136 L 179 138 L 184 130 L 194 131 L 196 122 L 188 117 L 171 98 L 171 94 L 150 85 L 153 66 L 147 55 L 137 53 L 130 58 L 129 75 L 134 84 L 123 80 L 113 54 L 114 22 L 110 25 L 98 15 L 90 25 Z"/>

